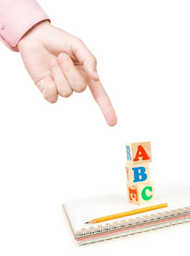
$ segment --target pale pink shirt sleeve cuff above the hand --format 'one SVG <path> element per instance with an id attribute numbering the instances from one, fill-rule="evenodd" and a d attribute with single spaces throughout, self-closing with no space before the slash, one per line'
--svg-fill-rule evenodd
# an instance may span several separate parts
<path id="1" fill-rule="evenodd" d="M 50 20 L 36 0 L 0 0 L 0 41 L 18 52 L 23 35 L 42 20 Z"/>

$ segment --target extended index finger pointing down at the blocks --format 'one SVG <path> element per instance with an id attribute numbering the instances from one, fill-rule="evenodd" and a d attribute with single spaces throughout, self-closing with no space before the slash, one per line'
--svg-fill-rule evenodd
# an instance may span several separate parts
<path id="1" fill-rule="evenodd" d="M 91 90 L 94 100 L 99 105 L 99 108 L 102 111 L 102 114 L 110 126 L 114 126 L 117 123 L 116 112 L 111 104 L 111 100 L 108 94 L 105 92 L 105 89 L 100 81 L 92 81 L 87 79 L 88 87 Z"/>

